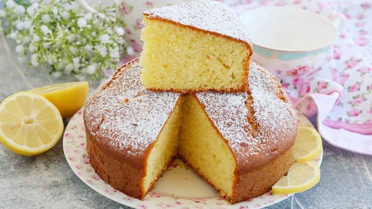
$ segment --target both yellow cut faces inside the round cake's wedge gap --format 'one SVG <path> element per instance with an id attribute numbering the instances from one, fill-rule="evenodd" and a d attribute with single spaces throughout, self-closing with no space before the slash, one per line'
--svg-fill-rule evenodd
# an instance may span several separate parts
<path id="1" fill-rule="evenodd" d="M 193 95 L 178 102 L 163 126 L 147 159 L 143 194 L 177 154 L 222 196 L 233 195 L 234 156 Z"/>

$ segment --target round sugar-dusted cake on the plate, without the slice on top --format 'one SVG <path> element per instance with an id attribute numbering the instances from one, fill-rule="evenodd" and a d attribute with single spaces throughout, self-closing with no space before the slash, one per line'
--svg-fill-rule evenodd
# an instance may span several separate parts
<path id="1" fill-rule="evenodd" d="M 252 63 L 244 93 L 181 95 L 146 90 L 140 70 L 120 67 L 84 109 L 90 163 L 111 186 L 143 199 L 179 156 L 234 204 L 287 173 L 297 117 L 274 76 Z"/>

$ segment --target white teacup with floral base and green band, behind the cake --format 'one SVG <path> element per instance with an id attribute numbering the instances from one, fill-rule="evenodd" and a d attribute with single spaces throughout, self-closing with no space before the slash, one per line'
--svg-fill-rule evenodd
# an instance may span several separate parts
<path id="1" fill-rule="evenodd" d="M 294 7 L 261 7 L 242 14 L 252 39 L 252 60 L 275 72 L 316 69 L 345 25 L 342 14 L 326 18 Z"/>

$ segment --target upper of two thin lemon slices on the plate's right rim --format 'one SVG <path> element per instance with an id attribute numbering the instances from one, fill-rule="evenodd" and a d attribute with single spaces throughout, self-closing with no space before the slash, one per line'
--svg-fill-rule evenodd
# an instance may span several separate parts
<path id="1" fill-rule="evenodd" d="M 318 132 L 308 126 L 299 126 L 293 151 L 294 160 L 297 162 L 311 160 L 321 153 L 321 148 L 321 137 Z"/>

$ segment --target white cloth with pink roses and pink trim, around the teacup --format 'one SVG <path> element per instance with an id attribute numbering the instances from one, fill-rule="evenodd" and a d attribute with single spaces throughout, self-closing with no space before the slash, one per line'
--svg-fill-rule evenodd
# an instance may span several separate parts
<path id="1" fill-rule="evenodd" d="M 223 1 L 223 0 L 222 0 Z M 318 130 L 330 144 L 372 155 L 372 0 L 240 0 L 243 13 L 259 6 L 295 6 L 324 16 L 347 18 L 346 28 L 318 69 L 267 69 L 282 82 L 293 104 L 305 115 L 317 113 Z"/>

